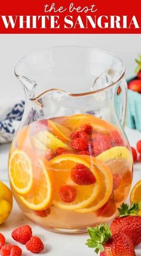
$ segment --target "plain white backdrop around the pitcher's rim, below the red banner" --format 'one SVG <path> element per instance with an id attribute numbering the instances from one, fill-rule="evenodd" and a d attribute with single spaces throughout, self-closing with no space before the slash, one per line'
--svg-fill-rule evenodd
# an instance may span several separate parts
<path id="1" fill-rule="evenodd" d="M 0 35 L 0 103 L 23 99 L 23 89 L 14 76 L 14 66 L 24 55 L 57 45 L 90 46 L 108 50 L 124 61 L 126 76 L 134 75 L 134 59 L 141 53 L 141 35 Z"/>

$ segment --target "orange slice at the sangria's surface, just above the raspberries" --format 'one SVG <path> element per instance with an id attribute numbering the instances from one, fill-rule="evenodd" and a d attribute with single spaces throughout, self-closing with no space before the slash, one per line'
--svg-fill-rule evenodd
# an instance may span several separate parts
<path id="1" fill-rule="evenodd" d="M 109 124 L 106 121 L 89 114 L 70 115 L 63 118 L 62 124 L 71 130 L 76 130 L 83 124 L 91 124 L 94 130 L 101 130 L 102 132 L 117 130 L 117 128 L 112 124 Z"/>

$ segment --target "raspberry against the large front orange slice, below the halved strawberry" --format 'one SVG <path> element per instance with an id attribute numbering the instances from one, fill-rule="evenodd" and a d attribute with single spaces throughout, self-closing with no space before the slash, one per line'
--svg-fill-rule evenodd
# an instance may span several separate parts
<path id="1" fill-rule="evenodd" d="M 60 187 L 59 195 L 63 202 L 72 203 L 76 199 L 76 188 L 73 186 L 65 185 Z"/>

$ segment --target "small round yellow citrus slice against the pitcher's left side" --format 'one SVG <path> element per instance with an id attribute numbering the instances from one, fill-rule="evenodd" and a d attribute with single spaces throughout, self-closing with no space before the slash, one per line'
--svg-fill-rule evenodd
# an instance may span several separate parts
<path id="1" fill-rule="evenodd" d="M 33 183 L 32 162 L 22 150 L 14 150 L 9 161 L 10 181 L 17 193 L 29 192 Z"/>

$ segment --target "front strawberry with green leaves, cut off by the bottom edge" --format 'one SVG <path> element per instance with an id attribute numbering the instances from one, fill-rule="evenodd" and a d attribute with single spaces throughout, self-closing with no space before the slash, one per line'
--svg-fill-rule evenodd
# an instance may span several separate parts
<path id="1" fill-rule="evenodd" d="M 108 225 L 100 224 L 95 228 L 87 228 L 90 239 L 86 245 L 96 248 L 100 256 L 135 256 L 133 243 L 126 234 L 117 233 L 112 236 Z"/>

